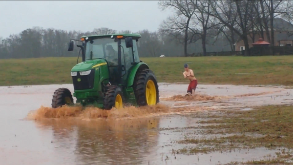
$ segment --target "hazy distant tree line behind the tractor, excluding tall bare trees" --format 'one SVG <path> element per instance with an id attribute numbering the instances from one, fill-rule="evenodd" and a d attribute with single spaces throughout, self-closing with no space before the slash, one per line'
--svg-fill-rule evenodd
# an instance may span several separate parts
<path id="1" fill-rule="evenodd" d="M 79 48 L 74 52 L 68 52 L 70 39 L 80 39 L 87 35 L 105 35 L 113 33 L 130 34 L 129 30 L 116 31 L 109 28 L 98 28 L 92 32 L 65 31 L 58 29 L 43 29 L 33 27 L 26 29 L 17 35 L 10 35 L 6 39 L 0 39 L 0 59 L 10 58 L 40 58 L 40 57 L 75 57 Z M 162 32 L 150 32 L 141 30 L 138 33 L 142 38 L 138 41 L 140 57 L 180 57 L 184 56 L 184 46 L 172 35 Z M 211 51 L 230 51 L 225 43 L 208 45 Z M 226 46 L 226 47 L 225 47 Z M 202 52 L 201 45 L 192 43 L 188 45 L 189 52 Z"/>

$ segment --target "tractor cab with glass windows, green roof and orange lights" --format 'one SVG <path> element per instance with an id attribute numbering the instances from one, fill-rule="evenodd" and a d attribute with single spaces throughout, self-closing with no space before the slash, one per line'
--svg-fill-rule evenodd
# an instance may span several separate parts
<path id="1" fill-rule="evenodd" d="M 128 71 L 140 62 L 136 45 L 139 38 L 140 35 L 133 34 L 84 36 L 83 62 L 105 60 L 109 84 L 126 85 Z"/>

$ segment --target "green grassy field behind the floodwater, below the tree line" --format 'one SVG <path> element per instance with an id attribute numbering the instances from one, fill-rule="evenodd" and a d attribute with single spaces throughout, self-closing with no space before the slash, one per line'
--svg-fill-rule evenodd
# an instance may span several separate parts
<path id="1" fill-rule="evenodd" d="M 0 86 L 71 83 L 70 70 L 77 58 L 0 60 Z M 293 85 L 293 57 L 190 57 L 141 58 L 159 82 L 188 82 L 184 63 L 193 69 L 199 84 Z"/>

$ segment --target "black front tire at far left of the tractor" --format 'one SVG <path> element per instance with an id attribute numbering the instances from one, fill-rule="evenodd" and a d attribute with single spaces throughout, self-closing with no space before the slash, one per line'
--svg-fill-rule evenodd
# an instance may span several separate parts
<path id="1" fill-rule="evenodd" d="M 68 100 L 66 102 L 66 99 L 68 98 L 70 100 L 70 103 Z M 52 98 L 52 104 L 51 104 L 52 108 L 58 108 L 65 104 L 67 105 L 73 104 L 73 97 L 70 90 L 67 88 L 59 88 L 55 90 L 53 98 Z"/>

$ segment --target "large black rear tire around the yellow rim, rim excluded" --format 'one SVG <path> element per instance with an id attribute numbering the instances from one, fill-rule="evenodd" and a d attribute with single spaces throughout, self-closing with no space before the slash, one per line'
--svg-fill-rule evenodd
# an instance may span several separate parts
<path id="1" fill-rule="evenodd" d="M 159 85 L 157 82 L 157 78 L 154 73 L 150 69 L 139 70 L 135 76 L 133 82 L 133 90 L 136 97 L 136 103 L 139 106 L 146 106 L 146 83 L 148 80 L 152 80 L 156 87 L 156 104 L 160 102 L 159 95 Z"/>

